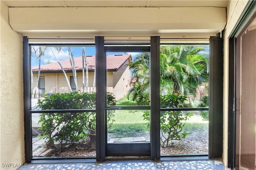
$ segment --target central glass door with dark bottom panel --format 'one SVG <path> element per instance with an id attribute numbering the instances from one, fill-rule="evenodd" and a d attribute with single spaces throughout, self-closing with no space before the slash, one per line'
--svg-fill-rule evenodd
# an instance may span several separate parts
<path id="1" fill-rule="evenodd" d="M 150 46 L 105 46 L 105 57 L 106 156 L 150 156 Z"/>

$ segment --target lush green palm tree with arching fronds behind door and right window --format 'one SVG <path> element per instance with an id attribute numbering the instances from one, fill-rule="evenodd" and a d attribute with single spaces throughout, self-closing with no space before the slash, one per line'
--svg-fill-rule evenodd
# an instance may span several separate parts
<path id="1" fill-rule="evenodd" d="M 195 94 L 202 82 L 208 82 L 208 54 L 203 47 L 165 46 L 160 49 L 160 93 Z M 137 82 L 130 90 L 133 100 L 141 102 L 149 92 L 149 54 L 141 53 L 128 64 Z M 148 97 L 149 100 L 149 97 Z"/>

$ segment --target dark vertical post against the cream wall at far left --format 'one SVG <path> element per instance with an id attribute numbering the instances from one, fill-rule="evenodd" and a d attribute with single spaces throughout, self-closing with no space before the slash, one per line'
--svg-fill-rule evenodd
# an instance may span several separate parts
<path id="1" fill-rule="evenodd" d="M 31 84 L 30 84 L 30 51 L 28 37 L 23 37 L 23 84 L 24 84 L 24 128 L 25 128 L 25 161 L 31 162 L 32 125 L 31 125 Z"/>

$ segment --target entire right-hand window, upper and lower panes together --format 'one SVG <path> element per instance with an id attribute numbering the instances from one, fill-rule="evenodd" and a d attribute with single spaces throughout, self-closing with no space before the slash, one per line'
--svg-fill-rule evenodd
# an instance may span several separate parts
<path id="1" fill-rule="evenodd" d="M 208 154 L 208 86 L 209 45 L 160 47 L 162 155 Z"/>

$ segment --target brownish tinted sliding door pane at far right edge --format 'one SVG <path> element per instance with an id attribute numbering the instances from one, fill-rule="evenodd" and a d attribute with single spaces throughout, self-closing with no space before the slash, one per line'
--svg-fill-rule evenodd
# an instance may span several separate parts
<path id="1" fill-rule="evenodd" d="M 237 37 L 236 47 L 236 168 L 256 168 L 256 14 Z"/>

